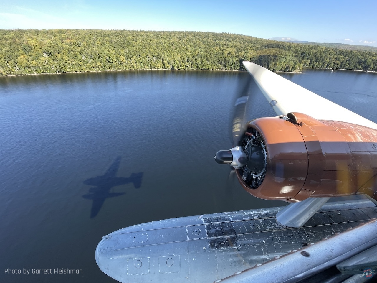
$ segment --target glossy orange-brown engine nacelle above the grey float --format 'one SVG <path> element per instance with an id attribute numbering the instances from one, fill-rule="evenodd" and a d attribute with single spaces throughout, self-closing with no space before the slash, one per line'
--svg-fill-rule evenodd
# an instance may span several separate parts
<path id="1" fill-rule="evenodd" d="M 244 145 L 251 137 L 259 140 L 254 157 L 264 161 L 259 169 L 248 169 L 252 163 L 236 169 L 247 192 L 291 202 L 364 193 L 376 197 L 377 130 L 301 113 L 287 117 L 247 124 Z"/>

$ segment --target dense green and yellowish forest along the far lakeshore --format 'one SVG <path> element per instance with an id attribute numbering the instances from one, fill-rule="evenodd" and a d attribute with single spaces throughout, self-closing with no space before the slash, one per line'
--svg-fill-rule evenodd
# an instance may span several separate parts
<path id="1" fill-rule="evenodd" d="M 377 71 L 377 53 L 276 42 L 238 34 L 182 31 L 0 30 L 0 75 L 137 69 Z"/>

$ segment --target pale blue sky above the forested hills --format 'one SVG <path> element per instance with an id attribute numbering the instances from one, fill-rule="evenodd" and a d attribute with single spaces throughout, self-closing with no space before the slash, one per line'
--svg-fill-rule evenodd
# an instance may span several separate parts
<path id="1" fill-rule="evenodd" d="M 376 11 L 376 0 L 0 0 L 0 28 L 211 31 L 377 46 Z"/>

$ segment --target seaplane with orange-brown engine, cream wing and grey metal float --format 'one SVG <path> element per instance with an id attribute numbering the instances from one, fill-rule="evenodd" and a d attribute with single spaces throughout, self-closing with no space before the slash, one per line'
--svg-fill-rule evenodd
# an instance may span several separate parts
<path id="1" fill-rule="evenodd" d="M 133 225 L 103 236 L 98 267 L 123 283 L 365 282 L 377 268 L 377 124 L 262 66 L 243 65 L 276 117 L 245 123 L 250 81 L 215 160 L 285 207 Z"/>

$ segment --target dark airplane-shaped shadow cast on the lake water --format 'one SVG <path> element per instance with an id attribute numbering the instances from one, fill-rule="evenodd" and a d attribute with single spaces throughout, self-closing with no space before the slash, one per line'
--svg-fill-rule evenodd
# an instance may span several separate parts
<path id="1" fill-rule="evenodd" d="M 118 172 L 120 166 L 120 161 L 121 157 L 116 157 L 105 174 L 94 178 L 88 178 L 83 182 L 85 185 L 94 186 L 93 188 L 89 189 L 89 194 L 83 195 L 83 198 L 93 200 L 90 218 L 97 216 L 106 198 L 118 197 L 126 194 L 125 192 L 110 192 L 113 187 L 126 185 L 129 183 L 133 183 L 136 189 L 141 187 L 143 172 L 132 173 L 129 178 L 116 177 L 116 173 Z"/>

